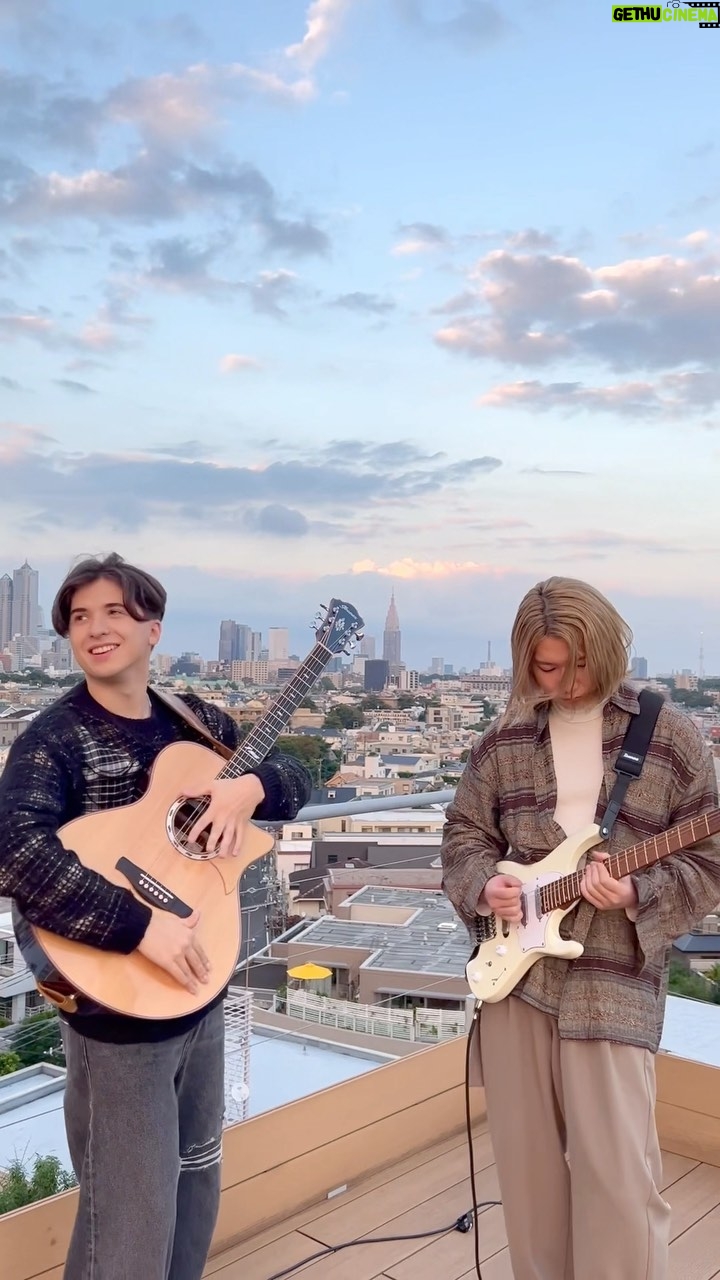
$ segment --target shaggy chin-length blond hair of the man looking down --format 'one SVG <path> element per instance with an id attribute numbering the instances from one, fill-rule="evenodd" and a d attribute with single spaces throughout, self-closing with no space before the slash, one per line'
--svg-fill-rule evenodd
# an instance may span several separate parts
<path id="1" fill-rule="evenodd" d="M 533 678 L 533 657 L 546 636 L 565 641 L 570 671 L 584 657 L 598 701 L 607 701 L 626 678 L 633 632 L 618 609 L 588 582 L 548 577 L 524 596 L 512 626 L 511 718 L 550 700 Z"/>

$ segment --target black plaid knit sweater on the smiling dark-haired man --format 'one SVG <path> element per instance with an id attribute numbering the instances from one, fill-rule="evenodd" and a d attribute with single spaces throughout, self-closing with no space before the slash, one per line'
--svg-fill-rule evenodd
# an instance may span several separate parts
<path id="1" fill-rule="evenodd" d="M 238 745 L 225 712 L 191 694 L 184 700 L 214 737 Z M 85 813 L 138 800 L 164 746 L 204 741 L 163 703 L 151 703 L 147 719 L 127 719 L 77 685 L 32 721 L 0 774 L 0 895 L 14 899 L 32 924 L 126 954 L 141 941 L 150 908 L 83 867 L 56 832 Z M 252 772 L 265 790 L 256 819 L 292 819 L 306 804 L 310 778 L 293 756 L 270 753 Z"/>

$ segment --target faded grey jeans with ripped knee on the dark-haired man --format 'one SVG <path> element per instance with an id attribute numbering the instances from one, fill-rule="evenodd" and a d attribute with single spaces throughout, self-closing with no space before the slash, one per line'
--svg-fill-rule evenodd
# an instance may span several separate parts
<path id="1" fill-rule="evenodd" d="M 105 1044 L 63 1027 L 79 1204 L 64 1280 L 200 1280 L 220 1201 L 222 1004 L 187 1036 Z"/>

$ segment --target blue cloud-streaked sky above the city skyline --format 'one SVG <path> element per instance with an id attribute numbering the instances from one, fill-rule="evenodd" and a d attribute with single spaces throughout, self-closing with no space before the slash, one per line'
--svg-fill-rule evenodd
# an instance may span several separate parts
<path id="1" fill-rule="evenodd" d="M 0 0 L 0 47 L 1 568 L 117 549 L 209 657 L 395 586 L 420 667 L 569 573 L 720 671 L 720 31 Z"/>

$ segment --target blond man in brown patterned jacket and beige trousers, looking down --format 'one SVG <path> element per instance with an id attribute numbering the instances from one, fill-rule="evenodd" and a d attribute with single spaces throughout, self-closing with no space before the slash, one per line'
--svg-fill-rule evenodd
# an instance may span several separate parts
<path id="1" fill-rule="evenodd" d="M 442 842 L 445 890 L 471 932 L 491 913 L 521 920 L 521 882 L 497 874 L 498 860 L 536 863 L 601 823 L 641 710 L 625 678 L 630 643 L 585 582 L 551 577 L 523 599 L 510 704 L 473 748 Z M 666 1280 L 653 1055 L 670 943 L 720 900 L 720 838 L 624 879 L 603 863 L 716 805 L 710 753 L 666 701 L 564 922 L 583 954 L 539 959 L 510 996 L 482 1007 L 482 1080 L 515 1280 Z"/>

